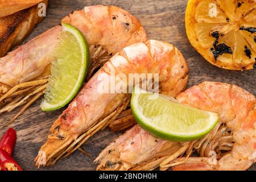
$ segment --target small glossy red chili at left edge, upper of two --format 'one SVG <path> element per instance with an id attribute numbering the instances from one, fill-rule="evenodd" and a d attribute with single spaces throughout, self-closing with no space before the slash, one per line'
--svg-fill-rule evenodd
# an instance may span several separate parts
<path id="1" fill-rule="evenodd" d="M 9 155 L 13 154 L 13 150 L 16 144 L 16 131 L 12 128 L 6 131 L 0 140 L 0 148 L 5 150 Z"/>

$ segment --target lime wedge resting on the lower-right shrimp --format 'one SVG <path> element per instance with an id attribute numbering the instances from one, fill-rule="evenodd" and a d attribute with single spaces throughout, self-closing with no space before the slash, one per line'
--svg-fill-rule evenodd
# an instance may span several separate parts
<path id="1" fill-rule="evenodd" d="M 178 104 L 161 94 L 135 88 L 131 111 L 146 131 L 166 140 L 185 142 L 204 137 L 218 122 L 216 113 Z"/>

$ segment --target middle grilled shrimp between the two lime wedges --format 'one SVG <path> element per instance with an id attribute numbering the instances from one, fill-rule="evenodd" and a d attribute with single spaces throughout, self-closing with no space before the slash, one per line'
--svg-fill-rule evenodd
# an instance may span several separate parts
<path id="1" fill-rule="evenodd" d="M 109 83 L 111 73 L 129 77 L 129 73 L 159 74 L 161 92 L 177 96 L 188 81 L 188 67 L 180 51 L 171 44 L 149 40 L 137 43 L 114 55 L 82 88 L 51 127 L 47 142 L 40 148 L 36 165 L 49 166 L 68 156 L 129 105 L 128 93 L 101 93 L 98 88 Z M 114 80 L 118 85 L 119 80 Z M 133 86 L 129 81 L 127 87 Z"/>

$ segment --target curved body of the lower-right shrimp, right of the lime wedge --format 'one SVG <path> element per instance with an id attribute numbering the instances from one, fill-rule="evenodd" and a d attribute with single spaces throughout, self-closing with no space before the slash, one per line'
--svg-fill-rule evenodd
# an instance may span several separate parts
<path id="1" fill-rule="evenodd" d="M 179 97 L 184 99 L 191 96 L 193 96 L 193 102 L 192 99 L 185 99 L 185 104 L 216 112 L 223 126 L 216 133 L 218 135 L 214 135 L 217 139 L 210 138 L 206 141 L 207 143 L 201 143 L 201 146 L 205 144 L 205 147 L 201 148 L 204 152 L 200 152 L 199 158 L 188 158 L 187 162 L 174 166 L 172 169 L 241 171 L 255 163 L 255 96 L 236 85 L 216 82 L 204 82 L 199 86 L 194 86 L 180 94 Z M 198 100 L 205 104 L 197 103 Z M 228 152 L 222 154 L 222 150 Z M 218 160 L 209 155 L 210 151 L 219 155 Z M 201 162 L 201 159 L 205 158 L 208 160 Z M 212 163 L 212 159 L 215 160 L 215 163 Z"/>

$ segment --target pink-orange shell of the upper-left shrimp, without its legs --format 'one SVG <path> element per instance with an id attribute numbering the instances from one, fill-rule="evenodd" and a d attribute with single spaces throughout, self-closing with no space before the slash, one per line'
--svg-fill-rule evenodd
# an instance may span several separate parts
<path id="1" fill-rule="evenodd" d="M 101 45 L 109 54 L 147 40 L 141 23 L 116 6 L 85 7 L 83 10 L 73 11 L 61 22 L 79 28 L 89 45 Z M 40 76 L 53 60 L 52 50 L 61 31 L 61 26 L 53 27 L 2 57 L 0 83 L 13 87 Z"/>

